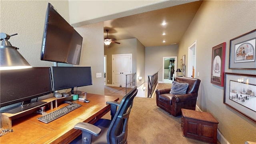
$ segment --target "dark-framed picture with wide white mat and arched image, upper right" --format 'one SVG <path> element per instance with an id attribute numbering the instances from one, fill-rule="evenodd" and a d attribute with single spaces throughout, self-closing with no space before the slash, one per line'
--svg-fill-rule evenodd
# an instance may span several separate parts
<path id="1" fill-rule="evenodd" d="M 230 40 L 230 69 L 256 70 L 256 29 Z"/>

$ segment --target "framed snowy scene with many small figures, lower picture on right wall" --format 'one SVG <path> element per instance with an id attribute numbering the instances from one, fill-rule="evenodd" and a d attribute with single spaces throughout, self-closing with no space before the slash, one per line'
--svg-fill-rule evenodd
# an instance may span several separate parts
<path id="1" fill-rule="evenodd" d="M 256 75 L 225 73 L 224 104 L 256 123 Z"/>

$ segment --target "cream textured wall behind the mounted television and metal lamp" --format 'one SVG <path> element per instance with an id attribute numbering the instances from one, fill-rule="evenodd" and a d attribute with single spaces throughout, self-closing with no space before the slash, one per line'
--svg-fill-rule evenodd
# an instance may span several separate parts
<path id="1" fill-rule="evenodd" d="M 54 66 L 54 62 L 40 60 L 42 37 L 46 8 L 50 2 L 69 21 L 68 1 L 24 1 L 1 0 L 0 1 L 0 32 L 15 34 L 10 38 L 12 46 L 20 48 L 18 51 L 33 67 Z M 53 94 L 42 96 L 51 97 Z"/>

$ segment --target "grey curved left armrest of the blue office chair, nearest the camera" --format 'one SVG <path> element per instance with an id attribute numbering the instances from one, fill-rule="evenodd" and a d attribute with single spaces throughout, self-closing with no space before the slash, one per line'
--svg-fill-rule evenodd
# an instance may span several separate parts
<path id="1" fill-rule="evenodd" d="M 98 136 L 101 132 L 101 129 L 92 124 L 88 124 L 86 122 L 79 122 L 74 126 L 74 129 L 82 130 L 83 132 L 88 132 L 93 134 L 94 136 Z"/>

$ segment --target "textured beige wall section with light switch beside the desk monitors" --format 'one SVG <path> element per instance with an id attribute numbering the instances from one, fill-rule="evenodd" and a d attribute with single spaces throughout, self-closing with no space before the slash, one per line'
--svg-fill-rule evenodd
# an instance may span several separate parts
<path id="1" fill-rule="evenodd" d="M 85 92 L 104 95 L 104 46 L 103 22 L 75 28 L 83 37 L 81 59 L 79 66 L 92 67 L 92 86 L 78 88 Z M 96 78 L 101 73 L 101 78 Z"/>

